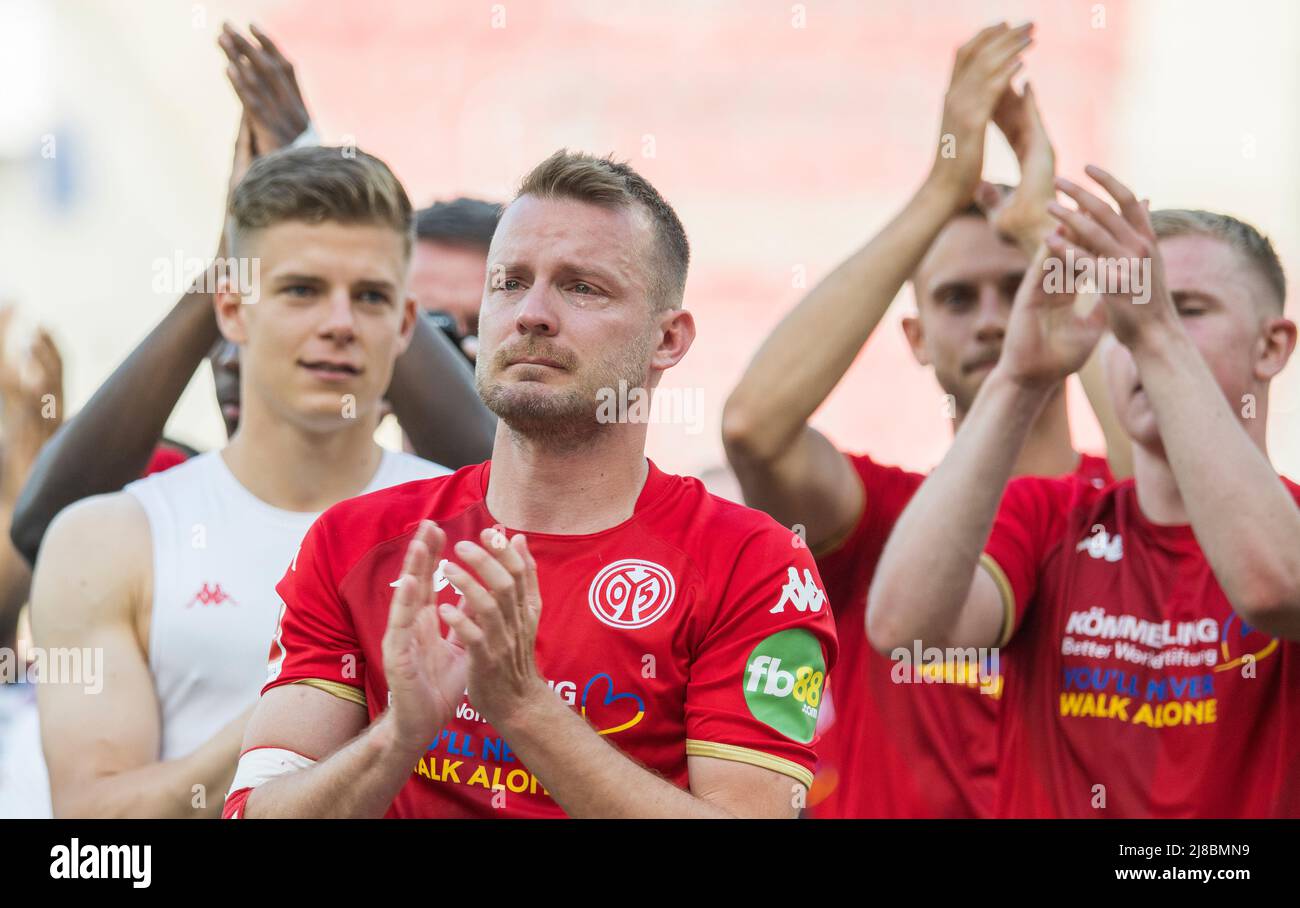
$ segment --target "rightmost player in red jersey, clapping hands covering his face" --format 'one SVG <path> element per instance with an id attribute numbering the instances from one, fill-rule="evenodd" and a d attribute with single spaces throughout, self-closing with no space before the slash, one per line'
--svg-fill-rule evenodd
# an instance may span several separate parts
<path id="1" fill-rule="evenodd" d="M 1300 816 L 1300 487 L 1265 445 L 1269 382 L 1296 343 L 1282 267 L 1242 221 L 1150 215 L 1088 174 L 1119 213 L 1058 181 L 1078 209 L 1053 203 L 1061 228 L 1002 359 L 885 546 L 871 639 L 1010 637 L 1000 816 Z M 1061 280 L 1080 271 L 1104 291 L 1087 314 Z M 1134 479 L 1008 487 L 1108 319 Z"/>

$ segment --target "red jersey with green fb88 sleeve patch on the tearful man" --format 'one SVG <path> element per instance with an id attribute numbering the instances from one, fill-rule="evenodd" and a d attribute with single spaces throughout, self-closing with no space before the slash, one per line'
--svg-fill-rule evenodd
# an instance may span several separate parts
<path id="1" fill-rule="evenodd" d="M 264 689 L 308 683 L 387 702 L 381 641 L 419 522 L 478 541 L 490 462 L 328 510 L 277 587 L 285 602 Z M 835 622 L 798 536 L 653 463 L 632 516 L 598 533 L 528 533 L 542 617 L 537 667 L 555 695 L 642 766 L 688 786 L 686 756 L 812 781 Z M 441 571 L 438 601 L 459 593 Z M 389 817 L 558 817 L 560 808 L 468 697 L 429 730 Z"/>

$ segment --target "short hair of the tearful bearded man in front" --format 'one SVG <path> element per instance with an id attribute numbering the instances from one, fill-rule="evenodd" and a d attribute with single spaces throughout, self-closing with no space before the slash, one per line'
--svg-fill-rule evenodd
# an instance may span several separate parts
<path id="1" fill-rule="evenodd" d="M 690 264 L 686 230 L 672 206 L 629 164 L 560 148 L 524 177 L 515 199 L 524 195 L 573 199 L 602 208 L 641 206 L 650 215 L 655 232 L 650 304 L 656 310 L 681 307 Z"/>

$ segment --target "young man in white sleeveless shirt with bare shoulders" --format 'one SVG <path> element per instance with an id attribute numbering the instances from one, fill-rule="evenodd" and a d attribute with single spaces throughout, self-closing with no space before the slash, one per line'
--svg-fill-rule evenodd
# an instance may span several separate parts
<path id="1" fill-rule="evenodd" d="M 40 687 L 60 816 L 216 816 L 303 533 L 343 498 L 446 472 L 373 440 L 417 317 L 412 209 L 389 168 L 344 148 L 270 154 L 234 189 L 228 229 L 234 256 L 260 260 L 255 286 L 214 295 L 240 347 L 238 429 L 68 507 L 36 561 L 36 644 L 109 669 L 98 695 Z"/>

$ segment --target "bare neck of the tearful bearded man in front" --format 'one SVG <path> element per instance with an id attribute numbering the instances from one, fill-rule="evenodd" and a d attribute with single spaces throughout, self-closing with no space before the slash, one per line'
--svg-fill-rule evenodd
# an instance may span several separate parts
<path id="1" fill-rule="evenodd" d="M 581 535 L 629 516 L 645 487 L 645 425 L 611 425 L 582 445 L 556 445 L 497 424 L 488 510 L 512 529 Z"/>

